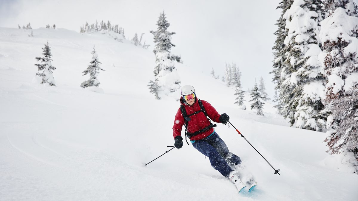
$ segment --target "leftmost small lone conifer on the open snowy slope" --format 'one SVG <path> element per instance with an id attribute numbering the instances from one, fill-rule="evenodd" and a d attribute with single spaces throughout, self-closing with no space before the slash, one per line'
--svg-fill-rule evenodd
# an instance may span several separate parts
<path id="1" fill-rule="evenodd" d="M 56 68 L 51 64 L 52 54 L 48 41 L 47 44 L 45 44 L 45 47 L 42 48 L 42 52 L 42 55 L 44 55 L 44 57 L 35 58 L 37 61 L 41 62 L 41 64 L 35 64 L 39 71 L 36 73 L 36 75 L 42 78 L 41 84 L 48 83 L 51 86 L 56 86 L 55 80 L 52 75 L 53 70 L 55 70 Z"/>

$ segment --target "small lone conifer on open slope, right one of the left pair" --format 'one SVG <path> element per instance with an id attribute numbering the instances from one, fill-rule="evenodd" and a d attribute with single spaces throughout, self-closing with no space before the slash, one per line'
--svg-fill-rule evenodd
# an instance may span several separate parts
<path id="1" fill-rule="evenodd" d="M 100 73 L 100 70 L 103 69 L 100 68 L 101 62 L 98 61 L 98 54 L 96 53 L 94 45 L 91 54 L 92 60 L 89 62 L 90 65 L 88 65 L 87 69 L 82 72 L 83 75 L 87 75 L 89 73 L 89 79 L 81 83 L 82 88 L 93 86 L 98 87 L 101 84 L 97 79 L 97 74 Z"/>

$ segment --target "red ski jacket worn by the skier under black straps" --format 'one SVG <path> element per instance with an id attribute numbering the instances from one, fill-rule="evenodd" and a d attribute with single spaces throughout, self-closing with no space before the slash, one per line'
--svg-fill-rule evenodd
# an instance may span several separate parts
<path id="1" fill-rule="evenodd" d="M 219 113 L 216 111 L 216 109 L 211 106 L 210 103 L 206 102 L 205 100 L 201 100 L 203 103 L 203 106 L 205 108 L 206 113 L 208 114 L 209 118 L 213 120 L 214 122 L 221 123 L 219 121 Z M 193 114 L 197 111 L 200 111 L 200 106 L 198 103 L 198 98 L 195 97 L 195 102 L 192 106 L 189 106 L 184 103 L 183 97 L 180 98 L 180 103 L 184 106 L 185 111 L 187 111 L 188 116 L 190 114 Z M 174 120 L 174 126 L 173 126 L 173 137 L 180 136 L 182 132 L 182 127 L 184 125 L 184 116 L 182 114 L 182 111 L 180 108 L 178 109 L 178 112 L 175 114 L 175 120 Z M 194 114 L 193 116 L 190 116 L 190 121 L 188 121 L 187 130 L 189 133 L 195 133 L 197 131 L 202 130 L 205 127 L 208 127 L 210 125 L 210 121 L 205 116 L 203 112 L 199 112 L 198 114 Z M 214 128 L 210 128 L 209 130 L 199 133 L 196 136 L 193 136 L 189 138 L 190 140 L 198 140 L 198 139 L 204 139 L 205 137 L 208 137 L 211 133 L 214 132 Z"/>

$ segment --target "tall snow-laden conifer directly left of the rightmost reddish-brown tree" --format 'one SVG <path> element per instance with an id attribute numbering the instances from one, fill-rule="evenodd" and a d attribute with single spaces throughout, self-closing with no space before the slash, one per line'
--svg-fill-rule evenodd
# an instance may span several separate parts
<path id="1" fill-rule="evenodd" d="M 290 109 L 287 104 L 295 106 L 295 113 L 293 116 L 290 113 L 289 116 L 291 124 L 297 128 L 315 131 L 324 130 L 327 118 L 322 103 L 324 99 L 323 68 L 318 62 L 318 54 L 321 52 L 318 38 L 319 25 L 322 20 L 320 4 L 319 0 L 294 0 L 285 16 L 289 27 L 287 44 L 289 48 L 291 48 L 290 44 L 294 45 L 287 54 L 287 61 L 289 61 L 287 64 L 295 70 L 290 75 L 290 81 L 284 82 L 287 89 L 292 88 L 288 86 L 289 84 L 293 85 L 292 92 L 294 93 L 287 93 L 289 96 L 286 97 L 292 97 L 292 99 L 289 102 L 284 99 L 283 107 Z"/>

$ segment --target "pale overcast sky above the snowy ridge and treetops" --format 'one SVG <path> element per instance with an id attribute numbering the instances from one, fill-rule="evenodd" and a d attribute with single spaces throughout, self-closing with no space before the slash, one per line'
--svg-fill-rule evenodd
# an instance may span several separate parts
<path id="1" fill-rule="evenodd" d="M 175 3 L 176 2 L 176 3 Z M 184 64 L 208 73 L 214 68 L 223 76 L 225 63 L 236 63 L 242 72 L 243 88 L 252 88 L 255 78 L 265 79 L 274 95 L 272 46 L 280 17 L 280 0 L 0 0 L 0 27 L 17 28 L 29 22 L 33 29 L 56 24 L 79 31 L 82 24 L 110 20 L 124 28 L 125 36 L 145 33 L 149 49 L 154 48 L 149 30 L 164 10 L 176 32 L 174 54 Z M 153 57 L 154 59 L 154 57 Z M 210 82 L 210 80 L 208 80 Z"/>

